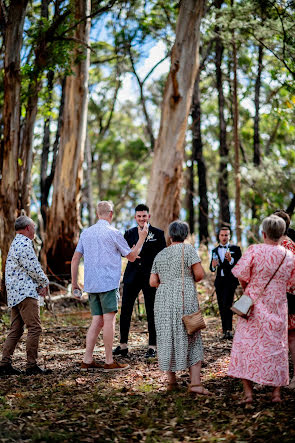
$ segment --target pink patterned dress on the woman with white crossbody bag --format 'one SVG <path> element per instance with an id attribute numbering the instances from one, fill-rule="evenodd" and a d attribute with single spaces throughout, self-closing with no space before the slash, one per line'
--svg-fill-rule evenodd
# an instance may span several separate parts
<path id="1" fill-rule="evenodd" d="M 286 290 L 295 285 L 295 256 L 290 251 L 257 299 L 285 252 L 282 246 L 250 246 L 232 270 L 248 283 L 245 294 L 254 301 L 249 318 L 238 319 L 228 368 L 232 377 L 270 386 L 289 383 Z"/>

